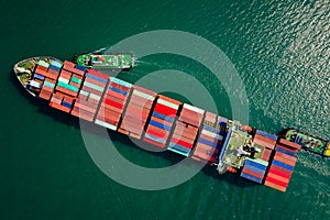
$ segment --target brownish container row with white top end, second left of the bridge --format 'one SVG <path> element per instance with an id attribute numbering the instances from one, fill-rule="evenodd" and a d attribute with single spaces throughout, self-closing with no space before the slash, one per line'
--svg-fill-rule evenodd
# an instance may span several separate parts
<path id="1" fill-rule="evenodd" d="M 205 110 L 184 103 L 167 147 L 169 151 L 184 156 L 189 155 L 204 119 L 204 113 Z"/>

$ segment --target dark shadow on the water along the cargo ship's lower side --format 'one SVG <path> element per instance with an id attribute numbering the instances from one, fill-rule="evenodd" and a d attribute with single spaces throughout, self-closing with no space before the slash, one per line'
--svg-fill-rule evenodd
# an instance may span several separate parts
<path id="1" fill-rule="evenodd" d="M 29 92 L 26 92 L 26 90 L 18 81 L 18 79 L 15 78 L 13 73 L 10 74 L 9 81 L 11 81 L 18 88 L 21 96 L 23 96 L 26 100 L 29 100 L 29 102 L 31 105 L 33 105 L 34 107 L 37 108 L 38 113 L 42 113 L 46 117 L 51 117 L 55 121 L 61 122 L 67 127 L 72 127 L 77 130 L 81 130 L 80 129 L 80 120 L 78 118 L 73 117 L 68 113 L 62 112 L 57 109 L 50 108 L 50 106 L 46 101 L 43 101 L 41 99 L 32 97 Z M 84 123 L 90 123 L 90 122 L 84 121 Z M 84 127 L 84 132 L 96 135 L 100 139 L 106 139 L 103 133 L 101 134 L 99 132 L 100 129 L 103 129 L 103 128 L 101 128 L 97 124 L 91 124 L 88 127 Z M 155 152 L 155 151 L 153 151 L 153 150 L 155 150 L 155 146 L 153 146 L 148 143 L 145 143 L 141 140 L 134 140 L 135 143 L 133 143 L 129 136 L 118 133 L 118 132 L 114 132 L 114 131 L 111 131 L 111 130 L 107 130 L 107 133 L 108 133 L 107 139 L 110 139 L 110 136 L 111 136 L 112 142 L 120 143 L 121 145 L 125 145 L 128 147 L 139 148 L 140 151 L 144 151 L 145 153 L 151 154 L 153 156 L 162 157 L 162 158 L 166 160 L 167 162 L 169 162 L 170 165 L 175 165 L 175 164 L 182 162 L 184 158 L 186 158 L 186 157 L 178 155 L 170 151 Z M 142 145 L 143 145 L 143 147 L 140 147 Z M 85 150 L 85 146 L 81 146 L 81 150 Z M 119 152 L 121 152 L 120 147 L 117 147 L 117 150 Z M 125 148 L 125 151 L 127 151 L 127 148 Z M 132 162 L 132 163 L 134 163 L 134 162 Z M 199 162 L 196 162 L 193 158 L 188 158 L 188 162 L 185 163 L 185 165 L 194 167 L 194 166 L 197 166 L 197 163 L 199 163 Z M 156 168 L 156 167 L 153 167 L 153 168 Z M 216 166 L 211 166 L 208 164 L 205 165 L 200 172 L 206 176 L 218 179 L 219 182 L 227 182 L 230 185 L 234 185 L 238 187 L 253 187 L 253 186 L 258 185 L 256 183 L 241 178 L 238 174 L 224 173 L 222 175 L 219 175 L 219 173 L 216 169 Z"/>

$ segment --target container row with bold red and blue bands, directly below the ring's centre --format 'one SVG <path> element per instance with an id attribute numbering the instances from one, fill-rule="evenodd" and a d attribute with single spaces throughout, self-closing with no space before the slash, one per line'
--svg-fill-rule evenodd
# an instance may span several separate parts
<path id="1" fill-rule="evenodd" d="M 175 99 L 160 95 L 143 141 L 160 147 L 165 147 L 180 105 L 182 102 Z"/>

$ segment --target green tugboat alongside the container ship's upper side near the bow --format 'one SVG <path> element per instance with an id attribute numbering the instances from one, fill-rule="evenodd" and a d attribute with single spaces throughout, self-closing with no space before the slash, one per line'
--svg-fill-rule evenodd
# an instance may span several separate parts
<path id="1" fill-rule="evenodd" d="M 74 62 L 86 68 L 131 69 L 134 66 L 132 54 L 77 54 Z"/>

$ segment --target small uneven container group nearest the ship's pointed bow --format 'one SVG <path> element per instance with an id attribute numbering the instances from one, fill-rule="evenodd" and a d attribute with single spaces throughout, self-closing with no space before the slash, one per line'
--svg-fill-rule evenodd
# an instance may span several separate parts
<path id="1" fill-rule="evenodd" d="M 33 75 L 33 81 L 42 85 L 38 94 L 40 98 L 45 100 L 51 99 L 62 65 L 62 63 L 55 61 L 52 61 L 51 64 L 38 61 Z"/>

